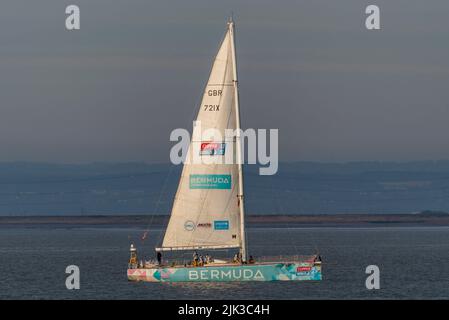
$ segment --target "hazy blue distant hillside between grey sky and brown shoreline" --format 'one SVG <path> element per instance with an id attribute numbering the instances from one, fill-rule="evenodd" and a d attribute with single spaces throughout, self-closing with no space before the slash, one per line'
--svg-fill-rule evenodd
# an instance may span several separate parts
<path id="1" fill-rule="evenodd" d="M 0 163 L 0 215 L 166 214 L 181 167 Z M 449 211 L 449 161 L 281 163 L 245 168 L 249 214 Z"/>

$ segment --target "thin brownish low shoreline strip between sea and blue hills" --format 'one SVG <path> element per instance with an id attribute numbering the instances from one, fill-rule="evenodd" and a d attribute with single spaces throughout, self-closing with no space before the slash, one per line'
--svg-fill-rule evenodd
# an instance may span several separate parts
<path id="1" fill-rule="evenodd" d="M 168 215 L 1 216 L 6 226 L 163 227 Z M 248 227 L 449 226 L 449 214 L 248 215 Z"/>

